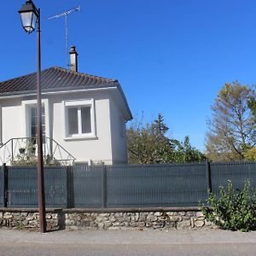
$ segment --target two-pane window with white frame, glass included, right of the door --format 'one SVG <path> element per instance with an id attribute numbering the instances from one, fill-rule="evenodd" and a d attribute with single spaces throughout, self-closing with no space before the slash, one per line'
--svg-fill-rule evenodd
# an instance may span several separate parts
<path id="1" fill-rule="evenodd" d="M 95 137 L 94 102 L 64 102 L 66 137 Z"/>

